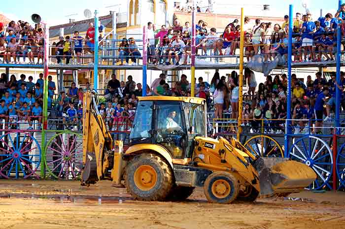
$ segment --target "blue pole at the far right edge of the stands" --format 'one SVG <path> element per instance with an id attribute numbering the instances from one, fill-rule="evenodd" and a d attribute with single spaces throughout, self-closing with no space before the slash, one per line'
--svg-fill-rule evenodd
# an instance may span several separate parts
<path id="1" fill-rule="evenodd" d="M 343 4 L 343 0 L 339 0 L 338 8 L 341 8 L 341 5 Z M 341 85 L 340 82 L 340 47 L 341 47 L 341 41 L 342 41 L 342 29 L 341 24 L 338 25 L 337 28 L 337 53 L 336 53 L 336 63 L 337 63 L 337 78 L 336 81 L 338 85 Z M 338 87 L 336 87 L 336 133 L 340 134 L 339 127 L 340 127 L 340 90 Z"/>

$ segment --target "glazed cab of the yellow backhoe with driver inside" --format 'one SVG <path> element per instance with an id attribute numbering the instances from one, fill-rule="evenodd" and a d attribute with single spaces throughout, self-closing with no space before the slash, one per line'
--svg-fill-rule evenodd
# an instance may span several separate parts
<path id="1" fill-rule="evenodd" d="M 194 138 L 206 137 L 205 103 L 201 98 L 139 98 L 130 144 L 157 144 L 173 159 L 190 158 Z"/>

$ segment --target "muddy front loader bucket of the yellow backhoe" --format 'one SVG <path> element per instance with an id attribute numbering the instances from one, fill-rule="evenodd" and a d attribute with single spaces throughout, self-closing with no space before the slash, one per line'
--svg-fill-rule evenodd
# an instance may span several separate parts
<path id="1" fill-rule="evenodd" d="M 288 158 L 259 158 L 255 167 L 261 196 L 298 193 L 316 179 L 315 172 L 308 165 Z"/>

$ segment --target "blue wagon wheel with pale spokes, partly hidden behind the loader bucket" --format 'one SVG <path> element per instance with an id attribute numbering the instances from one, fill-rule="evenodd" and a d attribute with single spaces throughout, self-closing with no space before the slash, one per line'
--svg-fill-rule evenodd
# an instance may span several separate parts
<path id="1" fill-rule="evenodd" d="M 333 171 L 333 156 L 331 148 L 321 138 L 315 136 L 305 136 L 292 145 L 288 157 L 295 161 L 300 161 L 310 166 L 317 177 L 310 189 L 322 189 L 327 186 Z"/>

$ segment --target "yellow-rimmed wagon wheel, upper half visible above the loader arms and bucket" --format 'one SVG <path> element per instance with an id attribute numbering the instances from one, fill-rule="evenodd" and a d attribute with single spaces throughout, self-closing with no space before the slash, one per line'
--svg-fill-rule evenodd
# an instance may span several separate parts
<path id="1" fill-rule="evenodd" d="M 284 157 L 283 150 L 279 143 L 268 135 L 255 135 L 249 138 L 243 146 L 254 156 Z"/>

